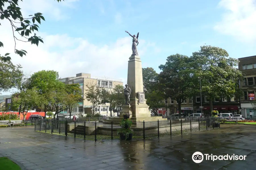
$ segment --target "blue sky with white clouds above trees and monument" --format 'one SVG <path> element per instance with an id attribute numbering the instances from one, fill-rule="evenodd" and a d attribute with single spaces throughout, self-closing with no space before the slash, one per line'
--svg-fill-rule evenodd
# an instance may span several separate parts
<path id="1" fill-rule="evenodd" d="M 140 32 L 142 66 L 157 72 L 168 56 L 190 56 L 205 44 L 234 58 L 256 55 L 255 0 L 25 0 L 21 7 L 27 15 L 42 12 L 46 18 L 38 33 L 45 43 L 18 44 L 28 55 L 11 56 L 26 73 L 53 69 L 67 77 L 84 72 L 126 83 L 132 39 L 125 30 Z M 8 27 L 0 27 L 0 37 L 9 35 Z M 12 43 L 0 50 L 12 50 Z"/>

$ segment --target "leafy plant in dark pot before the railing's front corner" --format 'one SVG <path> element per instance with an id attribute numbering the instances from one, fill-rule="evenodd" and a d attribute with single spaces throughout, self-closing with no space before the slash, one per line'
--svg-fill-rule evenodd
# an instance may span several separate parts
<path id="1" fill-rule="evenodd" d="M 122 141 L 130 141 L 133 136 L 133 129 L 131 129 L 132 121 L 123 119 L 120 122 L 120 129 L 117 129 L 117 133 L 120 135 Z"/>

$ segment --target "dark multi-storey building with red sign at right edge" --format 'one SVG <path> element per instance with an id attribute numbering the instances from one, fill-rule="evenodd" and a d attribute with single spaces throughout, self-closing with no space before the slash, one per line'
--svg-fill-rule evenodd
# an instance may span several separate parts
<path id="1" fill-rule="evenodd" d="M 244 79 L 240 81 L 240 89 L 243 90 L 241 96 L 241 113 L 246 118 L 256 116 L 256 109 L 252 103 L 255 101 L 256 90 L 256 56 L 243 57 L 238 59 L 238 69 L 243 73 Z"/>

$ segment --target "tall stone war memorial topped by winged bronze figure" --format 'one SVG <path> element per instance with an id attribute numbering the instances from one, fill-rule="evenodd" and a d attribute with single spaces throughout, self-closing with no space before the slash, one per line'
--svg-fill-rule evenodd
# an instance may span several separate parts
<path id="1" fill-rule="evenodd" d="M 127 32 L 127 31 L 125 31 Z M 128 32 L 127 32 L 128 33 Z M 123 116 L 122 113 L 129 112 L 132 116 L 131 119 L 135 121 L 150 121 L 162 119 L 161 116 L 151 116 L 149 111 L 149 106 L 146 104 L 146 99 L 144 95 L 143 88 L 143 76 L 142 76 L 142 66 L 141 58 L 137 52 L 138 37 L 131 35 L 133 37 L 132 51 L 133 54 L 128 61 L 128 74 L 127 74 L 127 84 L 131 88 L 130 101 L 122 106 L 122 111 L 120 117 Z"/>

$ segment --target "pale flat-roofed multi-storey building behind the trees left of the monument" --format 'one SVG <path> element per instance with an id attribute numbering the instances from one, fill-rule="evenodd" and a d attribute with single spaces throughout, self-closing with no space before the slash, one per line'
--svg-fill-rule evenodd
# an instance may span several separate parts
<path id="1" fill-rule="evenodd" d="M 94 84 L 99 85 L 104 88 L 106 91 L 114 88 L 116 85 L 122 85 L 123 82 L 121 80 L 115 80 L 111 78 L 101 78 L 101 77 L 92 77 L 91 74 L 88 73 L 78 73 L 75 77 L 66 77 L 66 78 L 59 78 L 59 81 L 65 84 L 79 84 L 80 88 L 82 89 L 82 97 L 83 101 L 79 104 L 79 107 L 73 108 L 71 114 L 90 114 L 92 112 L 92 103 L 85 98 L 86 93 L 86 85 Z M 105 116 L 110 116 L 110 104 L 106 103 L 105 105 L 99 105 L 94 108 L 95 112 L 98 112 Z M 68 115 L 68 111 L 65 110 L 59 113 L 59 116 Z M 117 113 L 113 113 L 112 116 L 117 116 Z"/>

